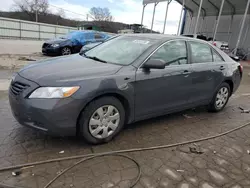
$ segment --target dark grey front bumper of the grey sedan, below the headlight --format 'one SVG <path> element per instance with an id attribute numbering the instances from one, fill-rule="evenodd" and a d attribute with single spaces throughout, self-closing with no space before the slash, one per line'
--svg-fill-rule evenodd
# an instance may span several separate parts
<path id="1" fill-rule="evenodd" d="M 15 119 L 22 125 L 58 136 L 75 136 L 77 118 L 81 111 L 78 100 L 66 99 L 29 99 L 29 95 L 38 88 L 34 82 L 16 76 L 12 82 L 29 85 L 29 88 L 15 95 L 9 89 L 9 102 Z M 12 86 L 10 86 L 12 87 Z"/>

